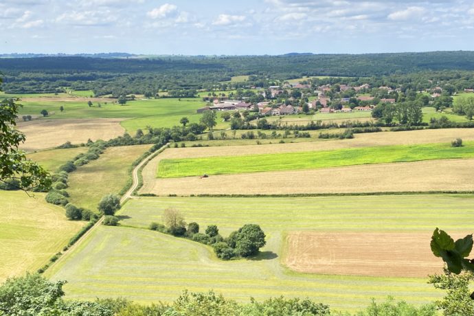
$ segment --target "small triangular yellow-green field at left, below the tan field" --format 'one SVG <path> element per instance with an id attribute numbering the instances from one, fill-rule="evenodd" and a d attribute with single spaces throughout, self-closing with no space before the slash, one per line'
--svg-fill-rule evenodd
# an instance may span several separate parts
<path id="1" fill-rule="evenodd" d="M 67 148 L 67 149 L 50 149 L 43 150 L 27 155 L 28 159 L 38 162 L 43 168 L 49 172 L 56 172 L 58 167 L 73 159 L 81 153 L 87 152 L 87 147 Z"/>

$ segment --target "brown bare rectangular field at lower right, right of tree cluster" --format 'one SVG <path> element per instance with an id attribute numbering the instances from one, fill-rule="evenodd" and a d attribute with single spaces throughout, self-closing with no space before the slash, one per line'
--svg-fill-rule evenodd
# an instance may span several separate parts
<path id="1" fill-rule="evenodd" d="M 430 239 L 426 233 L 292 232 L 284 264 L 303 273 L 426 278 L 442 273 Z"/>

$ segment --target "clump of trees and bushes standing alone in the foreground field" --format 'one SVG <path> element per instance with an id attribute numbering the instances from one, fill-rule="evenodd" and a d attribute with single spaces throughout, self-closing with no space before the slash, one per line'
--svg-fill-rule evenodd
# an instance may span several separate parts
<path id="1" fill-rule="evenodd" d="M 209 225 L 205 234 L 199 232 L 198 223 L 186 222 L 178 210 L 168 208 L 163 212 L 163 223 L 151 223 L 150 229 L 173 236 L 189 238 L 205 245 L 211 245 L 218 258 L 230 260 L 235 257 L 247 258 L 255 256 L 261 247 L 265 245 L 265 234 L 259 225 L 246 224 L 229 237 L 223 238 L 219 234 L 216 225 Z"/>

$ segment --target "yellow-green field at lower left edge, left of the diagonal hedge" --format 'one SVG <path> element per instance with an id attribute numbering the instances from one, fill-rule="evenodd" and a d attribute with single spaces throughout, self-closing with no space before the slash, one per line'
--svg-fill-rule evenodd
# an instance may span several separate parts
<path id="1" fill-rule="evenodd" d="M 0 191 L 0 282 L 42 267 L 82 225 L 67 221 L 43 193 Z"/>

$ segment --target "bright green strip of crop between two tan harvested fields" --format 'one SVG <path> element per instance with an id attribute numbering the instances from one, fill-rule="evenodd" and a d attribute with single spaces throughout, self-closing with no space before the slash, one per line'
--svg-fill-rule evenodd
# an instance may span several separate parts
<path id="1" fill-rule="evenodd" d="M 236 174 L 278 170 L 304 170 L 355 166 L 368 163 L 408 162 L 474 157 L 474 144 L 453 148 L 451 144 L 375 146 L 231 157 L 163 159 L 159 178 L 192 177 L 202 174 Z"/>

